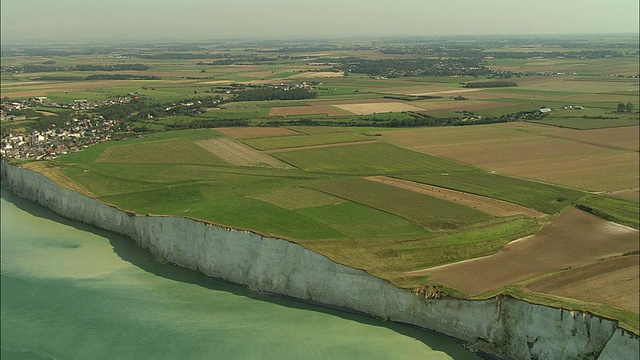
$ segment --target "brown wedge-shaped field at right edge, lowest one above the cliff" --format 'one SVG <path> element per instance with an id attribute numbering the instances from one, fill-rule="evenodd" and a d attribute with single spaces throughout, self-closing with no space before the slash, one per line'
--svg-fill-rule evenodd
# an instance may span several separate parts
<path id="1" fill-rule="evenodd" d="M 525 288 L 637 313 L 640 308 L 638 260 L 638 255 L 606 259 L 533 281 Z"/>

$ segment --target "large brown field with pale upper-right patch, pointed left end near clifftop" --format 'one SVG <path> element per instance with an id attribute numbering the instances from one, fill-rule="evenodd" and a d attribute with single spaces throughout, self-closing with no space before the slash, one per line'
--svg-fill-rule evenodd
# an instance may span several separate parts
<path id="1" fill-rule="evenodd" d="M 428 275 L 432 281 L 476 296 L 567 267 L 597 263 L 638 250 L 638 235 L 636 229 L 571 208 L 537 234 L 513 241 L 497 254 L 407 275 Z"/>

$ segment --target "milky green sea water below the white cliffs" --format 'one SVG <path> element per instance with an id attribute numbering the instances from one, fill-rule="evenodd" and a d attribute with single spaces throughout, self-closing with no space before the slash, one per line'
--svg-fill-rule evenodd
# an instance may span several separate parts
<path id="1" fill-rule="evenodd" d="M 2 188 L 2 359 L 475 359 L 416 328 L 251 292 Z"/>

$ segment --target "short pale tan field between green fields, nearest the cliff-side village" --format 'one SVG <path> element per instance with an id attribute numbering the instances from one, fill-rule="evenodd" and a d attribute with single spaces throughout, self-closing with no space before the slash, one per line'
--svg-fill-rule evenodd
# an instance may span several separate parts
<path id="1" fill-rule="evenodd" d="M 224 138 L 197 141 L 205 150 L 237 166 L 263 166 L 291 169 L 291 166 L 248 146 Z"/>

